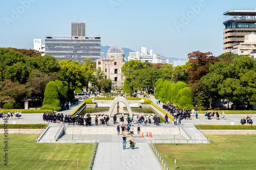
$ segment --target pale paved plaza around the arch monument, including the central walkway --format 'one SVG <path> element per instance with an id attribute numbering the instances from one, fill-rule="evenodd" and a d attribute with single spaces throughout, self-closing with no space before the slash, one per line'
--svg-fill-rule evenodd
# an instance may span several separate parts
<path id="1" fill-rule="evenodd" d="M 156 104 L 156 99 L 151 99 Z M 59 113 L 64 115 L 70 114 L 77 106 L 81 104 L 72 104 L 71 109 L 64 110 Z M 162 108 L 162 103 L 158 104 Z M 22 114 L 22 119 L 9 119 L 9 124 L 44 124 L 42 119 L 42 113 L 37 114 Z M 185 131 L 191 136 L 193 140 L 204 140 L 205 138 L 198 133 L 194 124 L 209 124 L 209 125 L 240 125 L 240 119 L 243 116 L 241 114 L 226 114 L 225 119 L 216 120 L 205 119 L 203 114 L 199 114 L 198 118 L 191 116 L 190 119 L 182 120 L 181 124 Z M 0 120 L 0 124 L 4 121 Z M 118 124 L 117 124 L 118 125 Z M 136 140 L 135 149 L 130 148 L 129 142 L 127 142 L 126 150 L 122 149 L 122 135 L 117 135 L 116 127 L 113 124 L 113 120 L 110 119 L 109 126 L 95 126 L 94 118 L 92 118 L 92 126 L 77 126 L 66 125 L 65 134 L 59 137 L 58 140 L 54 139 L 55 134 L 59 130 L 61 124 L 49 123 L 47 133 L 42 136 L 40 142 L 99 142 L 98 149 L 95 157 L 93 169 L 162 169 L 158 159 L 153 153 L 150 145 L 150 140 L 186 140 L 188 139 L 184 134 L 179 131 L 178 126 L 174 126 L 174 123 L 164 124 L 160 123 L 160 126 L 155 126 L 154 123 L 148 124 L 148 126 L 141 126 L 141 132 L 143 132 L 144 138 L 139 138 L 137 135 L 137 124 L 134 125 L 134 138 Z M 152 138 L 146 137 L 146 133 L 152 132 Z M 120 132 L 121 133 L 121 132 Z M 127 141 L 130 140 L 130 136 L 126 135 Z M 71 140 L 72 139 L 72 140 Z"/>

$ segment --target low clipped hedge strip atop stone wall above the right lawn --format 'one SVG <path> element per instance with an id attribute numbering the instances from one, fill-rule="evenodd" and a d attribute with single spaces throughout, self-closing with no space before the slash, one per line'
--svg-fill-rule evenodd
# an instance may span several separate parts
<path id="1" fill-rule="evenodd" d="M 202 130 L 256 130 L 256 125 L 197 125 Z"/>

